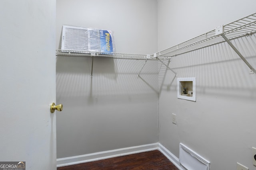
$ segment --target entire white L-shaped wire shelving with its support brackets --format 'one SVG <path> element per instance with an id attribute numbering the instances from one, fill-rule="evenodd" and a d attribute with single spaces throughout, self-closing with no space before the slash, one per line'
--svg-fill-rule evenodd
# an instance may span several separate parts
<path id="1" fill-rule="evenodd" d="M 92 57 L 92 66 L 94 57 L 108 57 L 114 59 L 138 59 L 146 60 L 143 67 L 148 60 L 158 60 L 163 63 L 168 69 L 172 70 L 168 65 L 166 65 L 163 60 L 170 60 L 171 57 L 176 55 L 188 53 L 190 51 L 202 49 L 211 45 L 216 45 L 218 43 L 227 42 L 232 49 L 239 55 L 239 57 L 248 65 L 251 69 L 250 74 L 254 73 L 254 68 L 246 61 L 242 54 L 236 49 L 236 47 L 230 42 L 230 40 L 237 39 L 244 36 L 252 36 L 256 33 L 256 13 L 236 20 L 232 23 L 222 25 L 216 29 L 194 37 L 188 41 L 164 49 L 152 55 L 144 54 L 125 54 L 125 53 L 102 53 L 102 52 L 91 52 L 91 51 L 76 51 L 76 50 L 56 50 L 56 56 L 85 56 Z M 142 69 L 143 69 L 142 67 Z M 140 70 L 140 72 L 142 71 Z M 139 74 L 140 74 L 139 72 Z M 138 76 L 139 76 L 138 74 Z"/>

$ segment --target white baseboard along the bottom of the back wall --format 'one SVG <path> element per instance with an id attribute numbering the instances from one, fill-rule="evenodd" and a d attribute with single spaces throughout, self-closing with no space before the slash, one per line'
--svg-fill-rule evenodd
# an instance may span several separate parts
<path id="1" fill-rule="evenodd" d="M 157 149 L 159 149 L 159 143 L 152 143 L 152 144 L 140 145 L 136 147 L 108 150 L 104 152 L 96 152 L 92 154 L 84 154 L 84 155 L 71 156 L 66 158 L 58 158 L 57 167 L 81 164 L 81 163 L 91 162 L 95 160 L 102 160 L 106 158 L 113 158 L 116 156 L 123 156 L 123 155 L 146 152 L 146 151 L 157 150 Z"/>

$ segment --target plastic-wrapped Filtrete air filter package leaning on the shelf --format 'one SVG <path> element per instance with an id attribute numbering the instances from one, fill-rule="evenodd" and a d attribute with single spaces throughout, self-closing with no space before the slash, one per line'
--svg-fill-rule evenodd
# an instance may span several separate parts
<path id="1" fill-rule="evenodd" d="M 103 29 L 63 25 L 61 50 L 115 52 L 113 32 Z"/>

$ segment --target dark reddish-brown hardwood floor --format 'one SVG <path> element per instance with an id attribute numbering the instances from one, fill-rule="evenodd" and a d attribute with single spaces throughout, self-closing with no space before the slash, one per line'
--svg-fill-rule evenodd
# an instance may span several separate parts
<path id="1" fill-rule="evenodd" d="M 178 170 L 178 168 L 159 150 L 153 150 L 63 166 L 57 168 L 57 170 Z"/>

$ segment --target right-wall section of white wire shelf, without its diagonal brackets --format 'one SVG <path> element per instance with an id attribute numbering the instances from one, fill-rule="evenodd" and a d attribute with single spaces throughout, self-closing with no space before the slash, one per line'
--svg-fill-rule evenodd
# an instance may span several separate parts
<path id="1" fill-rule="evenodd" d="M 246 16 L 240 20 L 236 20 L 227 25 L 223 25 L 223 32 L 229 40 L 243 36 L 249 36 L 256 33 L 256 13 Z M 225 39 L 216 33 L 216 30 L 209 31 L 188 41 L 159 51 L 151 56 L 153 57 L 173 57 L 183 53 L 188 53 L 197 49 L 215 45 L 224 42 Z"/>

